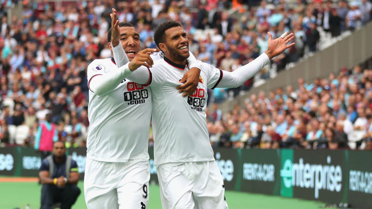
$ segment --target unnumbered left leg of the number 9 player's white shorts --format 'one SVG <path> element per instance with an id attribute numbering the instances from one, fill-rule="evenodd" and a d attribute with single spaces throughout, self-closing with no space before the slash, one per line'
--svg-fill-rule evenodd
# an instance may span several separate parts
<path id="1" fill-rule="evenodd" d="M 109 178 L 111 163 L 89 158 L 85 164 L 84 196 L 88 209 L 119 208 L 115 182 Z"/>

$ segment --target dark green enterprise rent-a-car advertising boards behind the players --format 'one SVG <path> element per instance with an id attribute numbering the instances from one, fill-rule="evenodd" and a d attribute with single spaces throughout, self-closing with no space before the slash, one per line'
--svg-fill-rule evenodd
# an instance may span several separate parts
<path id="1" fill-rule="evenodd" d="M 227 190 L 281 195 L 327 203 L 372 206 L 372 151 L 214 149 Z M 84 177 L 86 149 L 69 148 Z M 154 150 L 150 183 L 157 183 Z M 31 148 L 0 148 L 0 176 L 38 176 L 40 154 Z"/>

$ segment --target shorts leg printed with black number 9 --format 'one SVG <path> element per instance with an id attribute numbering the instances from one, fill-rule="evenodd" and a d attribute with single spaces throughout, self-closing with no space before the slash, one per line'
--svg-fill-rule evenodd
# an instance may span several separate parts
<path id="1" fill-rule="evenodd" d="M 119 209 L 146 209 L 149 202 L 149 161 L 130 161 L 118 184 Z"/>

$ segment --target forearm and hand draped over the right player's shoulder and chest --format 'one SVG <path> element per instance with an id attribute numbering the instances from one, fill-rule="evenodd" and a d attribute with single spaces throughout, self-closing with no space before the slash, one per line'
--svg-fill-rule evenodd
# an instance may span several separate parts
<path id="1" fill-rule="evenodd" d="M 196 60 L 195 56 L 189 52 L 190 55 L 187 58 L 189 71 L 182 77 L 180 83 L 182 85 L 177 87 L 177 90 L 182 93 L 183 97 L 191 96 L 199 83 L 201 61 Z"/>

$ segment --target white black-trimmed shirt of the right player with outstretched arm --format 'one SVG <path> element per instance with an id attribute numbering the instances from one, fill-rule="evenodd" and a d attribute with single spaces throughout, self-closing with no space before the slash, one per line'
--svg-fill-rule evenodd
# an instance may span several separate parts
<path id="1" fill-rule="evenodd" d="M 150 69 L 153 95 L 153 131 L 155 164 L 213 161 L 205 109 L 207 89 L 222 78 L 220 70 L 202 64 L 199 84 L 191 97 L 176 90 L 189 70 L 164 58 Z"/>

